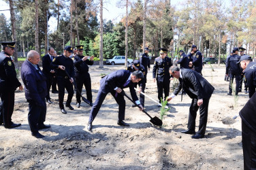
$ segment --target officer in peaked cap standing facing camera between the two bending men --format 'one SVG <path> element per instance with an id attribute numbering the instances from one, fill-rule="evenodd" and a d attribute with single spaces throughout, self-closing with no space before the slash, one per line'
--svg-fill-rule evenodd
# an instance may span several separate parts
<path id="1" fill-rule="evenodd" d="M 165 48 L 159 48 L 160 56 L 155 58 L 153 67 L 153 81 L 157 79 L 157 91 L 159 103 L 163 99 L 163 92 L 165 98 L 168 97 L 170 92 L 170 73 L 169 69 L 172 66 L 172 59 L 167 57 L 167 50 Z"/>

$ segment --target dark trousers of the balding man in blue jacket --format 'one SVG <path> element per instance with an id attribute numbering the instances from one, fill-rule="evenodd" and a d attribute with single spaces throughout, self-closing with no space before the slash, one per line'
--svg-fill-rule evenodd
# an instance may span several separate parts
<path id="1" fill-rule="evenodd" d="M 44 100 L 44 99 L 43 99 Z M 38 132 L 38 126 L 44 124 L 46 121 L 46 103 L 44 105 L 39 106 L 36 105 L 34 101 L 29 102 L 29 127 L 32 133 Z"/>

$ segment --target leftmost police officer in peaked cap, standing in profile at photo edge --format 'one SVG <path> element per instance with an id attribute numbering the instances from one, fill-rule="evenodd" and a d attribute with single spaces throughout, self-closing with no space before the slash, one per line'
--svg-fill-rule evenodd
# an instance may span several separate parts
<path id="1" fill-rule="evenodd" d="M 0 125 L 3 124 L 6 129 L 15 128 L 20 124 L 12 122 L 12 113 L 14 112 L 14 91 L 17 87 L 23 90 L 22 85 L 17 79 L 14 63 L 12 62 L 12 54 L 16 42 L 1 42 L 3 50 L 0 53 L 0 94 L 1 94 L 1 110 Z"/>

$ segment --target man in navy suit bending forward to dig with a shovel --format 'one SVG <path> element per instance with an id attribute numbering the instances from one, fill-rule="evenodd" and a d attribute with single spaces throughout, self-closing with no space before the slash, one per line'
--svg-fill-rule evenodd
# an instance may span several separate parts
<path id="1" fill-rule="evenodd" d="M 91 109 L 91 114 L 90 114 L 87 129 L 91 131 L 92 122 L 97 116 L 99 109 L 106 95 L 108 95 L 109 92 L 116 100 L 116 103 L 118 103 L 119 105 L 117 124 L 120 126 L 129 126 L 129 124 L 123 121 L 125 120 L 125 99 L 123 95 L 119 93 L 122 92 L 123 88 L 129 87 L 131 92 L 131 98 L 133 99 L 133 101 L 135 101 L 137 105 L 140 105 L 140 109 L 142 110 L 143 107 L 140 104 L 140 101 L 138 100 L 138 97 L 134 90 L 134 83 L 138 83 L 142 79 L 143 79 L 142 71 L 133 71 L 133 73 L 131 73 L 128 70 L 114 71 L 109 75 L 106 75 L 104 78 L 102 78 L 100 81 L 100 87 L 99 87 L 97 99 L 95 100 L 95 103 L 93 104 L 93 107 Z"/>

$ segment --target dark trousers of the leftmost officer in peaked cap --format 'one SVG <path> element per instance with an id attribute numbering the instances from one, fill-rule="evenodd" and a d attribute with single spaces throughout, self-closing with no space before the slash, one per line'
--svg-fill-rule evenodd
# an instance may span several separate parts
<path id="1" fill-rule="evenodd" d="M 5 127 L 12 125 L 12 113 L 14 112 L 14 90 L 1 92 L 0 122 Z"/>

